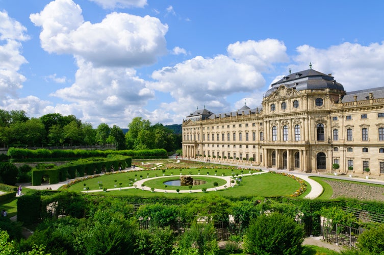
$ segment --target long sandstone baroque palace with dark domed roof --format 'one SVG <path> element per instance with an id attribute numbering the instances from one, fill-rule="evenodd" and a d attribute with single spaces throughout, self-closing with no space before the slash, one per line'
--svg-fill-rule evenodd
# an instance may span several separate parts
<path id="1" fill-rule="evenodd" d="M 384 174 L 384 87 L 346 92 L 311 69 L 271 85 L 262 106 L 183 120 L 183 157 L 304 172 Z"/>

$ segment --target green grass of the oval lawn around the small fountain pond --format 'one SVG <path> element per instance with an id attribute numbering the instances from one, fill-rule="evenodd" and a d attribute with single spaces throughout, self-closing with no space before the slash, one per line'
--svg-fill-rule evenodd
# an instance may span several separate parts
<path id="1" fill-rule="evenodd" d="M 199 171 L 200 170 L 200 171 Z M 191 172 L 193 175 L 197 175 L 199 172 L 201 173 L 200 176 L 198 176 L 199 180 L 206 180 L 208 181 L 207 184 L 196 186 L 193 189 L 201 189 L 201 188 L 214 188 L 213 182 L 217 182 L 219 186 L 224 185 L 225 181 L 215 178 L 214 173 L 215 170 L 217 170 L 217 174 L 221 175 L 221 173 L 224 173 L 226 176 L 235 174 L 240 174 L 239 169 L 231 170 L 231 169 L 182 169 L 182 174 L 186 175 L 189 172 Z M 170 173 L 173 172 L 173 176 L 170 175 Z M 210 173 L 211 176 L 206 176 L 207 172 Z M 81 192 L 83 191 L 84 187 L 89 187 L 89 190 L 98 190 L 98 184 L 101 182 L 103 183 L 103 188 L 111 189 L 115 188 L 114 185 L 117 184 L 117 187 L 119 187 L 119 182 L 122 182 L 121 187 L 129 187 L 129 179 L 136 179 L 140 180 L 140 175 L 143 176 L 143 179 L 147 179 L 146 176 L 154 177 L 156 174 L 158 176 L 162 176 L 161 170 L 146 170 L 146 171 L 135 171 L 135 172 L 126 172 L 126 173 L 117 173 L 117 174 L 106 174 L 102 175 L 97 178 L 88 179 L 80 183 L 76 183 L 68 188 L 70 191 L 77 191 Z M 151 179 L 148 178 L 147 181 L 145 181 L 146 187 L 153 187 L 157 189 L 164 189 L 164 181 L 168 180 L 176 180 L 180 176 L 180 171 L 178 169 L 172 169 L 172 170 L 166 170 L 165 175 L 169 177 L 164 177 L 160 179 Z M 244 171 L 244 173 L 248 173 L 248 171 Z M 136 174 L 136 176 L 135 176 Z M 204 174 L 204 175 L 203 175 Z M 117 180 L 117 182 L 114 182 L 114 180 Z M 218 191 L 211 191 L 211 192 L 218 192 L 220 195 L 224 196 L 232 196 L 232 197 L 268 197 L 268 196 L 290 196 L 293 194 L 299 187 L 300 184 L 296 182 L 295 180 L 291 179 L 290 177 L 279 175 L 279 174 L 271 174 L 271 173 L 263 173 L 263 174 L 254 174 L 251 176 L 244 176 L 243 181 L 239 186 L 235 186 L 233 188 L 227 188 L 226 190 L 218 190 Z M 84 186 L 84 183 L 86 186 Z M 169 186 L 167 187 L 167 190 L 189 190 L 188 187 L 177 187 L 177 186 Z M 308 193 L 307 191 L 306 193 Z M 208 192 L 207 192 L 208 193 Z M 113 195 L 113 196 L 127 196 L 127 195 L 133 195 L 133 196 L 141 196 L 141 197 L 153 197 L 153 196 L 166 196 L 166 197 L 175 197 L 175 196 L 194 196 L 199 197 L 202 196 L 204 193 L 181 193 L 181 194 L 175 194 L 175 193 L 160 193 L 160 192 L 150 192 L 150 191 L 142 191 L 141 187 L 137 187 L 137 189 L 123 189 L 121 191 L 108 191 L 103 193 L 94 193 L 94 194 L 102 194 L 102 195 Z"/>

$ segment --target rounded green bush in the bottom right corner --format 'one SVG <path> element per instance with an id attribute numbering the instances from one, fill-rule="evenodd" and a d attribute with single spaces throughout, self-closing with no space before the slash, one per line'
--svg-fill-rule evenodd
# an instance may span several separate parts
<path id="1" fill-rule="evenodd" d="M 384 254 L 384 224 L 365 230 L 357 238 L 356 245 L 365 254 Z"/>

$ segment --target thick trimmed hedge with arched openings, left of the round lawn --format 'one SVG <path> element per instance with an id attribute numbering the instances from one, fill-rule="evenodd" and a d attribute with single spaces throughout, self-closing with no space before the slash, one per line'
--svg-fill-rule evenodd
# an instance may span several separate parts
<path id="1" fill-rule="evenodd" d="M 111 169 L 116 171 L 121 168 L 131 167 L 132 158 L 122 155 L 108 155 L 106 158 L 90 158 L 80 159 L 69 162 L 61 166 L 53 166 L 52 164 L 39 164 L 32 169 L 32 185 L 41 185 L 44 176 L 49 176 L 49 184 L 64 182 L 67 179 L 75 177 L 84 177 L 85 174 L 92 175 L 101 173 L 101 171 L 110 172 Z"/>

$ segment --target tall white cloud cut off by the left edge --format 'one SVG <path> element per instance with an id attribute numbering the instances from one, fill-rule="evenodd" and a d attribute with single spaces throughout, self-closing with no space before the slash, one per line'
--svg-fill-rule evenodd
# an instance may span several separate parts
<path id="1" fill-rule="evenodd" d="M 28 40 L 27 29 L 20 22 L 0 11 L 0 100 L 16 97 L 22 88 L 24 75 L 19 73 L 22 64 L 28 61 L 21 55 L 20 41 Z M 4 106 L 4 104 L 3 104 Z"/>

